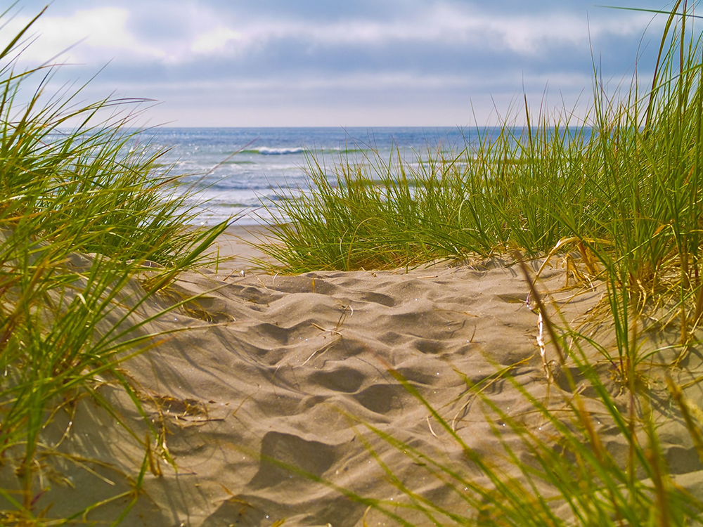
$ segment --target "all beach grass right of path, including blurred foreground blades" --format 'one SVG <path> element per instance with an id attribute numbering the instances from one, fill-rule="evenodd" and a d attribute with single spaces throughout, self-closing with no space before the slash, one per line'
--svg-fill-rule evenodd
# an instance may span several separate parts
<path id="1" fill-rule="evenodd" d="M 690 495 L 669 474 L 657 431 L 661 423 L 652 417 L 656 397 L 643 365 L 651 365 L 664 350 L 643 351 L 639 338 L 645 328 L 676 331 L 676 343 L 666 350 L 676 354 L 659 365 L 672 374 L 700 346 L 703 41 L 694 8 L 679 0 L 659 12 L 666 25 L 646 83 L 635 75 L 628 91 L 612 93 L 594 66 L 593 104 L 584 119 L 570 117 L 568 109 L 534 115 L 525 100 L 525 126 L 505 119 L 500 129 L 467 137 L 463 150 L 430 150 L 419 164 L 399 156 L 340 157 L 330 169 L 311 159 L 311 190 L 276 202 L 290 222 L 273 226 L 276 243 L 259 245 L 278 262 L 264 265 L 272 272 L 398 268 L 494 255 L 508 255 L 520 265 L 522 255 L 558 256 L 576 282 L 606 289 L 598 313 L 608 313 L 601 320 L 607 320 L 612 342 L 572 330 L 567 320 L 557 326 L 534 288 L 538 277 L 524 270 L 537 302 L 540 333 L 557 353 L 557 367 L 566 372 L 565 389 L 557 390 L 562 408 L 555 412 L 514 379 L 512 386 L 531 403 L 549 434 L 526 424 L 524 416 L 511 416 L 491 402 L 482 386 L 467 381 L 472 397 L 483 403 L 486 420 L 506 425 L 517 437 L 516 450 L 515 443 L 504 440 L 504 430 L 494 427 L 503 458 L 520 478 L 508 479 L 482 459 L 456 434 L 450 419 L 391 369 L 489 482 L 477 483 L 458 467 L 361 422 L 372 436 L 413 457 L 418 470 L 446 483 L 469 512 L 443 509 L 415 493 L 378 457 L 388 481 L 406 496 L 405 505 L 399 509 L 397 502 L 354 499 L 405 525 L 411 523 L 397 515 L 403 507 L 421 512 L 434 525 L 702 523 L 701 497 Z M 600 367 L 585 349 L 597 349 L 608 367 Z M 619 392 L 612 391 L 604 371 Z M 685 424 L 703 462 L 702 422 L 693 417 L 703 413 L 669 374 L 666 385 L 672 412 Z M 626 438 L 624 457 L 602 445 L 596 415 Z"/>

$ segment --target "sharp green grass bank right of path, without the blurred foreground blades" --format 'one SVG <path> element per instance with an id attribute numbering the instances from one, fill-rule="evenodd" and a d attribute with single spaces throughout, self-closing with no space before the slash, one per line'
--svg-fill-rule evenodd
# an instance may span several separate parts
<path id="1" fill-rule="evenodd" d="M 276 271 L 394 268 L 433 259 L 579 249 L 586 271 L 643 301 L 676 292 L 703 314 L 699 294 L 703 184 L 702 41 L 691 8 L 662 36 L 652 83 L 636 78 L 609 98 L 600 79 L 574 123 L 531 115 L 479 129 L 461 151 L 413 166 L 344 157 L 311 160 L 311 190 L 277 201 L 290 223 L 262 247 Z M 605 271 L 605 274 L 601 274 Z"/>

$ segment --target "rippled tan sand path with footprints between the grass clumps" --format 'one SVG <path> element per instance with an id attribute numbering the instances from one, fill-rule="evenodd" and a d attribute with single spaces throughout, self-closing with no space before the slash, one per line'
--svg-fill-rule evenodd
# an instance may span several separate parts
<path id="1" fill-rule="evenodd" d="M 146 436 L 146 425 L 124 389 L 105 379 L 98 390 L 116 415 L 82 398 L 74 412 L 58 412 L 45 432 L 45 441 L 56 442 L 70 429 L 56 449 L 61 455 L 44 457 L 42 488 L 49 490 L 38 497 L 37 510 L 51 505 L 50 516 L 71 514 L 127 493 L 86 514 L 101 523 L 115 519 L 134 498 L 129 491 L 144 467 L 143 490 L 126 526 L 270 526 L 284 519 L 287 527 L 395 524 L 373 510 L 365 518 L 366 505 L 334 486 L 387 500 L 389 511 L 418 525 L 430 523 L 427 516 L 400 506 L 408 498 L 389 482 L 382 462 L 419 496 L 469 514 L 442 481 L 362 424 L 483 481 L 448 431 L 389 368 L 408 379 L 467 445 L 515 474 L 501 459 L 500 434 L 491 431 L 501 422 L 486 417 L 484 405 L 467 391 L 466 379 L 477 383 L 494 376 L 484 393 L 508 415 L 518 416 L 529 415 L 531 405 L 505 377 L 495 377 L 496 371 L 510 367 L 521 386 L 543 400 L 551 398 L 554 405 L 568 388 L 557 367 L 548 388 L 536 340 L 538 318 L 524 302 L 528 287 L 517 268 L 493 259 L 407 272 L 261 275 L 246 270 L 242 256 L 250 249 L 233 238 L 238 233 L 231 230 L 220 242 L 221 252 L 237 255 L 229 266 L 217 273 L 186 273 L 140 308 L 143 315 L 156 313 L 204 293 L 143 328 L 195 329 L 160 337 L 153 349 L 124 363 L 125 375 L 138 386 L 143 410 L 162 438 L 158 445 L 150 441 L 150 448 L 167 449 L 177 470 L 164 461 L 153 466 L 145 461 L 144 448 L 117 417 L 139 439 Z M 532 270 L 540 263 L 531 262 Z M 538 287 L 552 309 L 558 306 L 569 323 L 578 325 L 598 305 L 603 289 L 564 289 L 565 278 L 561 260 L 555 259 Z M 135 283 L 135 297 L 140 291 Z M 583 328 L 608 338 L 607 323 Z M 666 335 L 652 333 L 646 345 L 660 346 Z M 546 353 L 547 362 L 555 360 L 552 348 Z M 597 355 L 593 360 L 608 377 L 607 362 Z M 695 350 L 676 370 L 676 378 L 695 379 L 702 370 Z M 665 392 L 662 370 L 651 367 L 647 378 L 658 393 Z M 617 394 L 615 387 L 613 391 Z M 687 396 L 702 405 L 697 384 Z M 663 418 L 670 412 L 664 402 L 654 410 Z M 595 403 L 593 411 L 598 411 Z M 531 426 L 540 425 L 533 421 Z M 690 436 L 676 419 L 667 423 L 662 445 L 670 469 L 682 486 L 703 497 L 703 467 Z M 599 433 L 612 452 L 625 448 L 607 423 Z M 509 429 L 503 439 L 520 452 Z M 6 463 L 0 469 L 4 486 L 12 484 L 11 468 Z"/>

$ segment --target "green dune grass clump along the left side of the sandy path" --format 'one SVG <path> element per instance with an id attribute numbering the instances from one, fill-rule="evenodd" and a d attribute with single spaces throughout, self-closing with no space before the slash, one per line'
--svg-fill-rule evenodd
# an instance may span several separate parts
<path id="1" fill-rule="evenodd" d="M 161 166 L 163 152 L 128 129 L 135 114 L 119 113 L 124 101 L 79 105 L 79 91 L 46 96 L 52 67 L 20 70 L 37 18 L 0 51 L 0 466 L 14 471 L 0 483 L 0 523 L 22 526 L 61 520 L 37 510 L 47 463 L 59 455 L 44 429 L 86 395 L 110 411 L 97 390 L 105 382 L 121 385 L 141 410 L 119 365 L 154 345 L 142 326 L 165 311 L 131 315 L 207 260 L 225 227 L 186 226 L 188 197 L 169 190 L 176 177 Z M 142 287 L 145 269 L 151 278 Z M 146 422 L 150 436 L 134 441 L 146 456 L 172 462 L 150 446 L 162 443 Z"/>

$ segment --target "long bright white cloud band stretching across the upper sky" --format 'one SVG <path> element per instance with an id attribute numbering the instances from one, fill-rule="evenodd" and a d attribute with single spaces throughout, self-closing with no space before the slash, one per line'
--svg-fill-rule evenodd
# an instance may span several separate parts
<path id="1" fill-rule="evenodd" d="M 423 4 L 422 8 L 399 8 L 393 18 L 360 11 L 321 23 L 295 15 L 277 17 L 271 11 L 241 11 L 236 4 L 218 10 L 206 3 L 174 2 L 167 14 L 160 4 L 143 4 L 79 9 L 65 15 L 49 11 L 34 27 L 41 38 L 25 58 L 46 59 L 81 39 L 86 40 L 70 55 L 93 65 L 115 57 L 170 64 L 223 53 L 236 58 L 278 41 L 295 42 L 304 53 L 315 53 L 324 46 L 354 49 L 421 44 L 502 48 L 521 56 L 536 56 L 553 46 L 588 46 L 589 39 L 603 35 L 638 34 L 651 18 L 643 13 L 623 16 L 610 12 L 589 25 L 583 11 L 486 13 L 472 4 L 445 1 Z M 18 17 L 13 25 L 29 20 Z M 148 21 L 146 26 L 144 21 Z M 10 27 L 4 33 L 12 31 Z"/>

